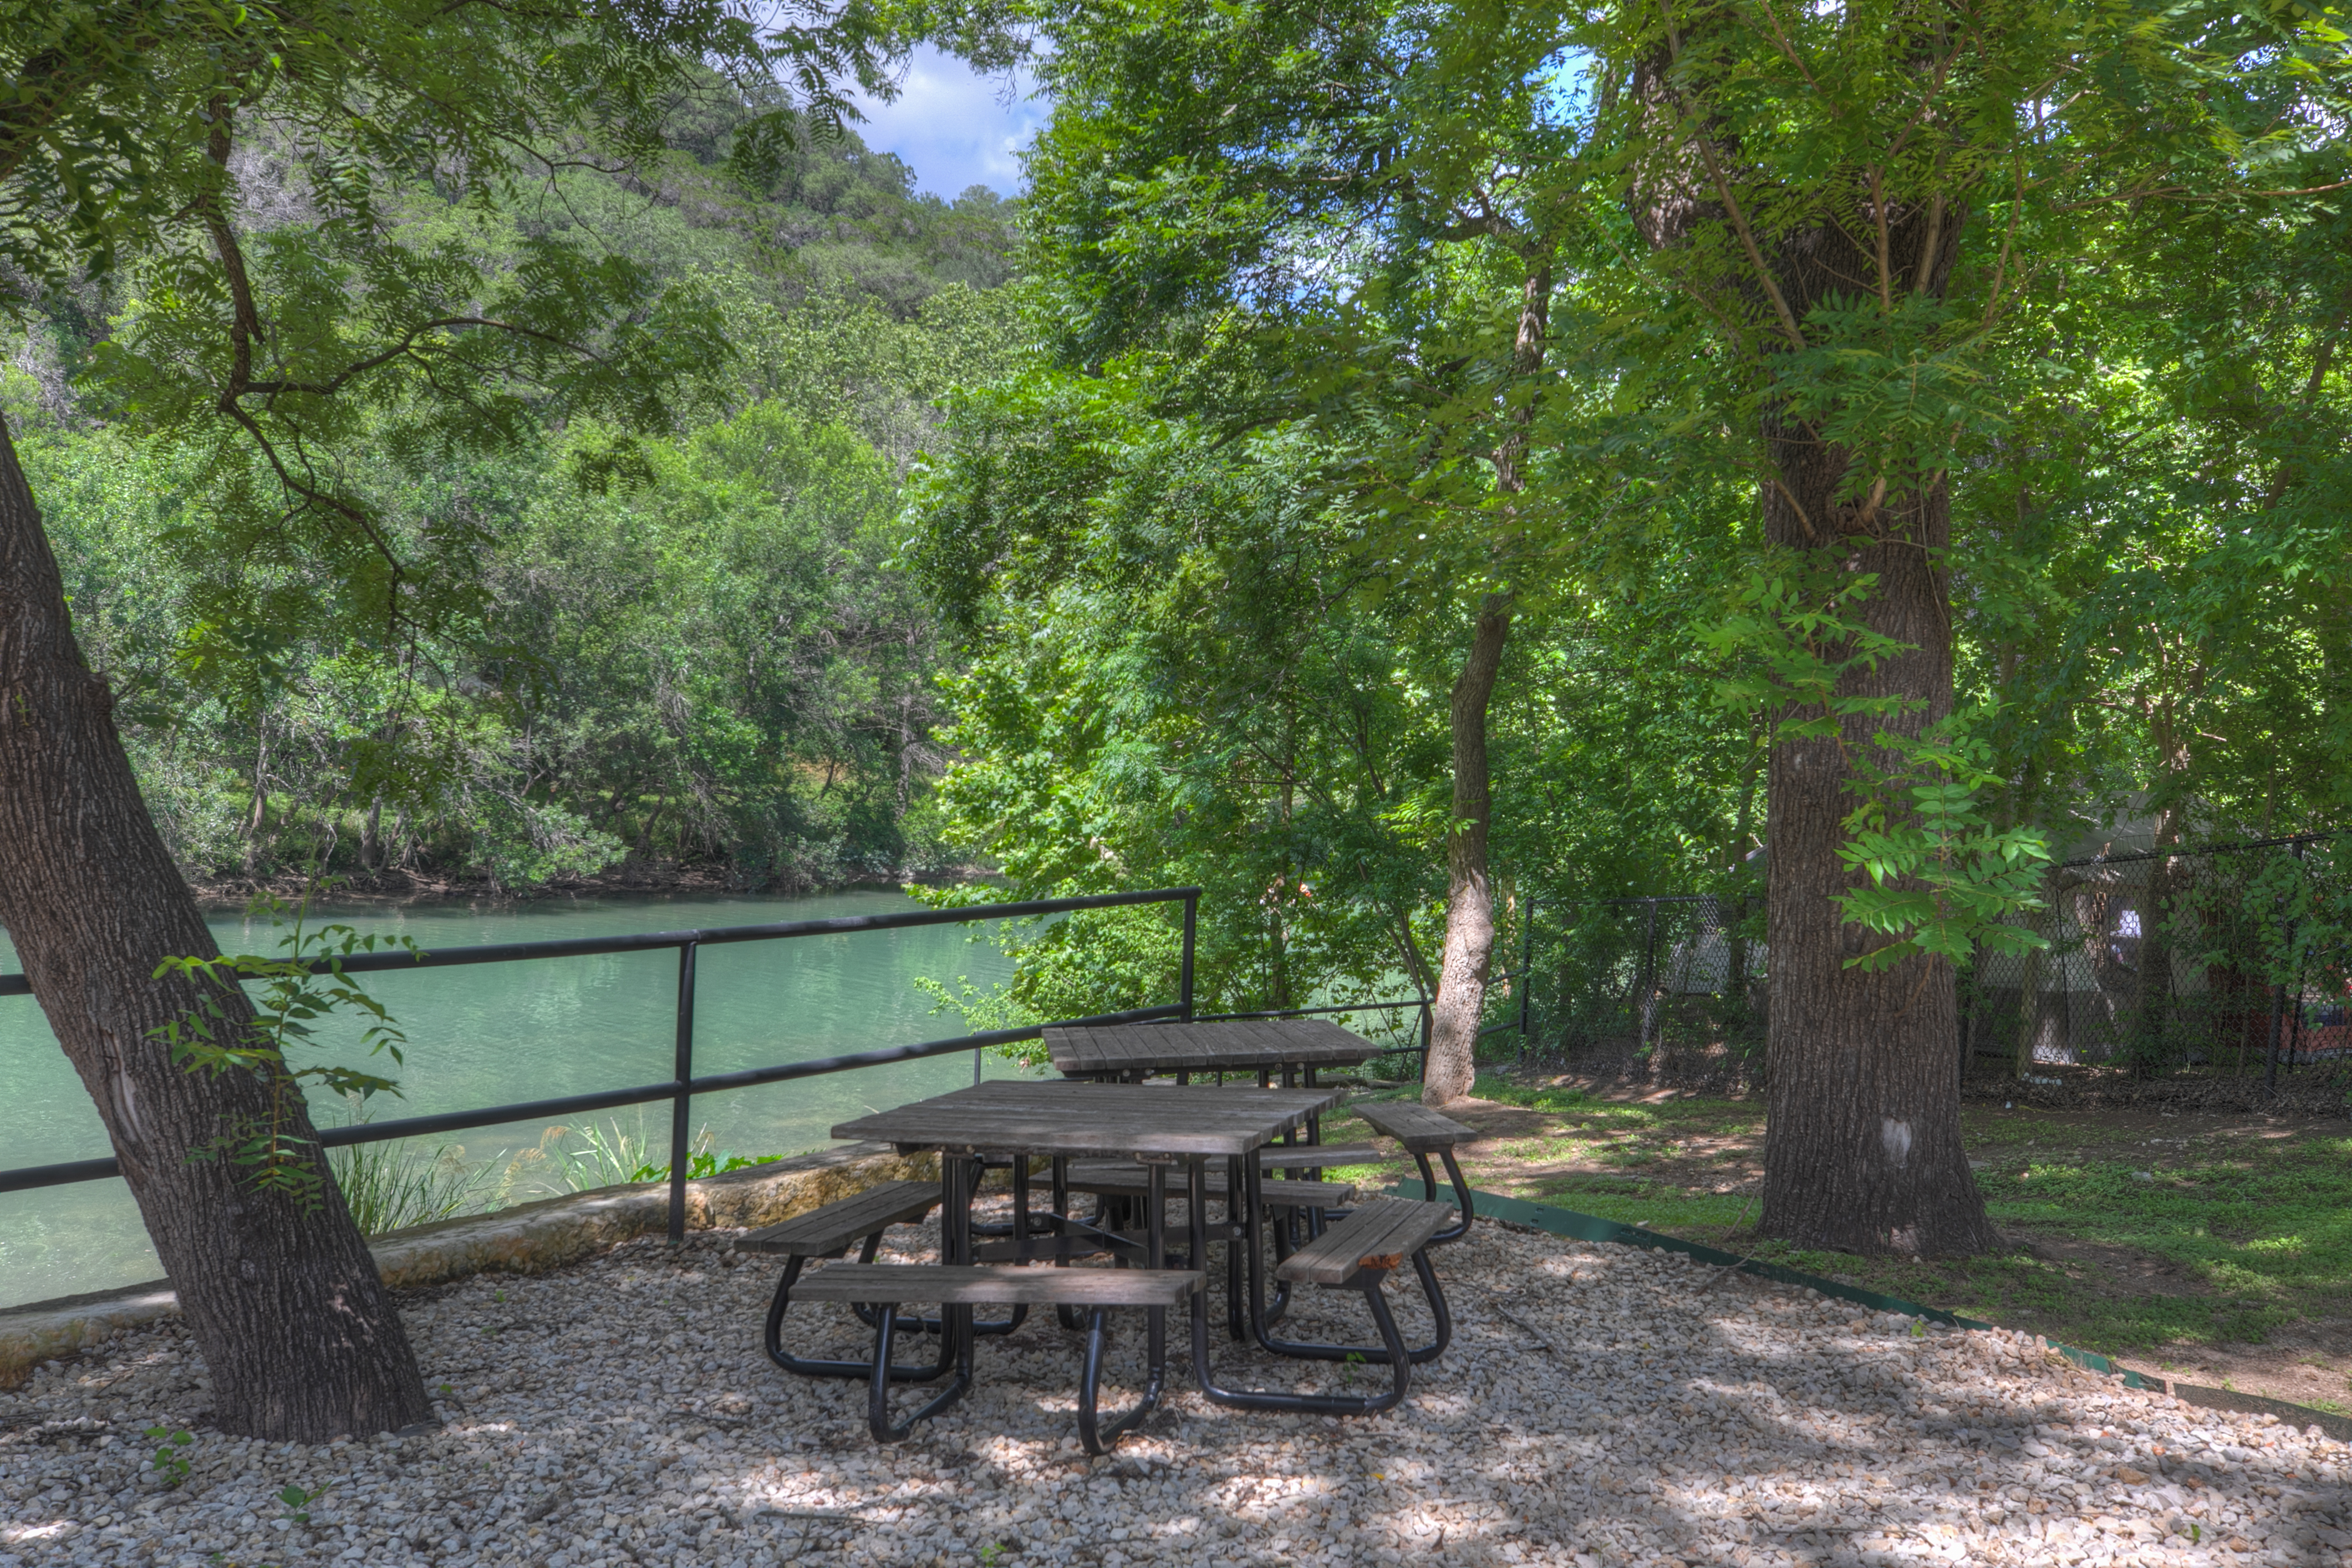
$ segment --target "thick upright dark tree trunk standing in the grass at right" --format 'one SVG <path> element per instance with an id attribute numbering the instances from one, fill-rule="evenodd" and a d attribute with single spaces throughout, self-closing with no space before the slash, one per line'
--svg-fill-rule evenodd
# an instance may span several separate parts
<path id="1" fill-rule="evenodd" d="M 1795 320 L 1853 280 L 1889 292 L 1940 294 L 1962 214 L 1891 209 L 1884 263 L 1863 249 L 1867 223 L 1823 223 L 1780 247 L 1773 273 Z M 1884 938 L 1849 924 L 1839 893 L 1860 886 L 1837 851 L 1872 736 L 1917 736 L 1952 710 L 1952 595 L 1945 550 L 1952 501 L 1943 473 L 1872 484 L 1837 501 L 1853 461 L 1818 428 L 1766 416 L 1773 480 L 1762 491 L 1773 543 L 1875 574 L 1858 607 L 1875 632 L 1912 644 L 1877 670 L 1853 670 L 1839 693 L 1900 696 L 1896 717 L 1853 715 L 1842 738 L 1776 738 L 1766 773 L 1771 860 L 1769 924 L 1769 1131 L 1759 1234 L 1858 1253 L 1969 1255 L 1999 1246 L 1959 1143 L 1959 1006 L 1945 959 L 1910 957 L 1891 969 L 1849 969 Z M 1900 802 L 1896 802 L 1900 804 Z"/>

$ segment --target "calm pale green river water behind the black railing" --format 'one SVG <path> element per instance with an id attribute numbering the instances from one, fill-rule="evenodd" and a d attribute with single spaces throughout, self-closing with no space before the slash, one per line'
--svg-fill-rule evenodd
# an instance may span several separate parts
<path id="1" fill-rule="evenodd" d="M 447 950 L 475 943 L 529 943 L 630 931 L 748 926 L 779 919 L 830 919 L 915 907 L 898 893 L 861 891 L 816 898 L 649 896 L 546 898 L 534 903 L 329 905 L 332 919 Z M 223 952 L 275 952 L 268 919 L 219 914 L 212 929 Z M 783 943 L 703 947 L 696 959 L 694 1070 L 731 1072 L 809 1060 L 842 1051 L 943 1039 L 964 1030 L 953 1013 L 934 1016 L 917 978 L 960 978 L 976 987 L 1009 976 L 1009 961 L 983 926 L 858 931 Z M 16 952 L 0 938 L 0 971 Z M 510 1100 L 546 1100 L 595 1088 L 630 1088 L 670 1077 L 677 954 L 621 952 L 527 964 L 480 964 L 365 976 L 407 1034 L 407 1063 L 381 1065 L 402 1098 L 376 1095 L 376 1119 L 421 1117 Z M 341 1027 L 327 1051 L 362 1063 Z M 303 1060 L 303 1053 L 296 1053 Z M 988 1077 L 1014 1072 L 997 1056 Z M 694 1103 L 696 1131 L 734 1154 L 797 1154 L 826 1145 L 835 1121 L 920 1100 L 971 1081 L 969 1056 L 891 1063 L 788 1084 L 767 1084 Z M 33 997 L 0 997 L 0 1166 L 38 1166 L 111 1154 L 99 1114 L 66 1063 Z M 322 1105 L 322 1121 L 343 1119 Z M 647 1140 L 647 1159 L 668 1164 L 668 1103 L 600 1112 L 569 1124 L 560 1147 L 579 1150 L 586 1131 Z M 503 1180 L 510 1201 L 541 1197 L 560 1180 L 532 1159 L 546 1124 L 480 1128 L 412 1140 L 419 1152 L 456 1150 L 468 1166 Z M 522 1157 L 517 1161 L 517 1157 Z M 482 1190 L 492 1201 L 499 1182 Z M 0 1307 L 80 1291 L 158 1279 L 162 1267 L 120 1180 L 0 1194 Z"/>

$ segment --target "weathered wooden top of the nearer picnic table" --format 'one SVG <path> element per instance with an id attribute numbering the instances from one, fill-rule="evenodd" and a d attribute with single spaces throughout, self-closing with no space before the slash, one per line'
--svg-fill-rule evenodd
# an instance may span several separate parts
<path id="1" fill-rule="evenodd" d="M 960 1154 L 1249 1154 L 1341 1103 L 1338 1088 L 1178 1088 L 995 1079 L 842 1121 L 835 1138 Z"/>

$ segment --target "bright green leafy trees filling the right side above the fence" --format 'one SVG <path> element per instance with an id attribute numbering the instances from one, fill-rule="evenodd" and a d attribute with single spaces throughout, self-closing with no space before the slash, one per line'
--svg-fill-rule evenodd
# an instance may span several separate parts
<path id="1" fill-rule="evenodd" d="M 2018 940 L 2042 856 L 2340 823 L 2343 14 L 1931 9 L 1028 7 L 1054 369 L 915 498 L 960 842 L 1211 886 L 1223 997 L 1425 978 L 1508 590 L 1505 896 L 1752 891 L 1773 729 L 1919 722 L 1853 696 L 1907 644 L 1837 541 L 1938 491 L 1959 703 L 1863 769 L 1870 961 Z M 1886 249 L 1929 223 L 1933 287 Z M 1839 226 L 1877 273 L 1799 320 L 1773 268 Z M 1776 421 L 1842 451 L 1811 552 L 1759 515 Z"/>

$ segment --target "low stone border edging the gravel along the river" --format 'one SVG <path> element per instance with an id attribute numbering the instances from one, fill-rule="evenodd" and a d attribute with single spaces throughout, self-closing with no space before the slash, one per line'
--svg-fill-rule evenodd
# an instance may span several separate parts
<path id="1" fill-rule="evenodd" d="M 818 1150 L 687 1182 L 687 1229 L 776 1225 L 891 1180 L 936 1180 L 936 1157 L 901 1157 L 887 1143 Z M 670 1222 L 670 1185 L 637 1182 L 517 1204 L 376 1237 L 383 1284 L 419 1291 L 492 1269 L 539 1274 L 579 1262 Z M 61 1295 L 0 1312 L 0 1389 L 35 1366 L 179 1312 L 172 1281 Z"/>

